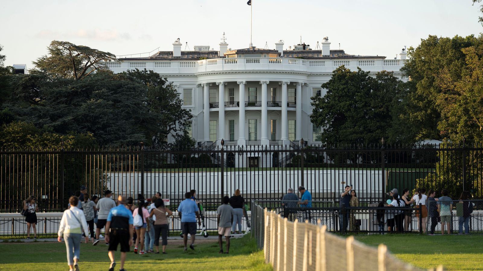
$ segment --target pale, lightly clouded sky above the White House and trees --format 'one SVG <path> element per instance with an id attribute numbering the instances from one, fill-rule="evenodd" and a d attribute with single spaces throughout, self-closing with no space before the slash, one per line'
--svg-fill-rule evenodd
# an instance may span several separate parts
<path id="1" fill-rule="evenodd" d="M 70 41 L 116 55 L 172 50 L 180 38 L 219 49 L 250 42 L 247 0 L 22 0 L 0 2 L 0 44 L 5 65 L 27 64 L 46 53 L 52 40 Z M 471 0 L 253 0 L 253 43 L 284 48 L 302 41 L 313 48 L 325 36 L 331 49 L 394 58 L 404 45 L 429 34 L 479 35 L 479 7 Z"/>

